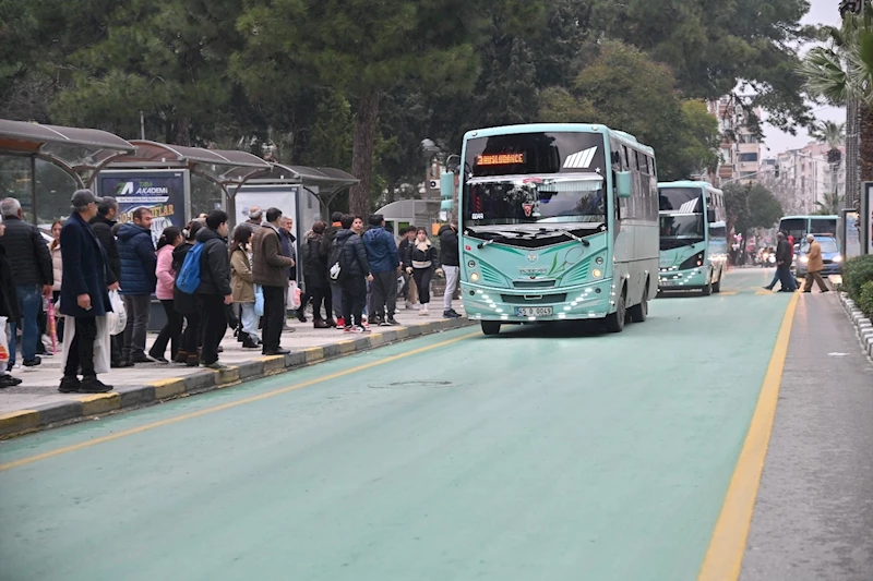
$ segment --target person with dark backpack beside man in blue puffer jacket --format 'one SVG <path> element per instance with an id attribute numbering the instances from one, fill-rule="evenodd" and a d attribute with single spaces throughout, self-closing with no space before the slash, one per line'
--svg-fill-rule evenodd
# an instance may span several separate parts
<path id="1" fill-rule="evenodd" d="M 336 233 L 334 245 L 342 253 L 339 276 L 343 288 L 343 319 L 346 332 L 367 332 L 363 326 L 363 305 L 367 302 L 367 281 L 373 280 L 367 250 L 363 247 L 363 218 L 343 216 L 343 230 Z M 330 266 L 328 266 L 330 268 Z"/>

